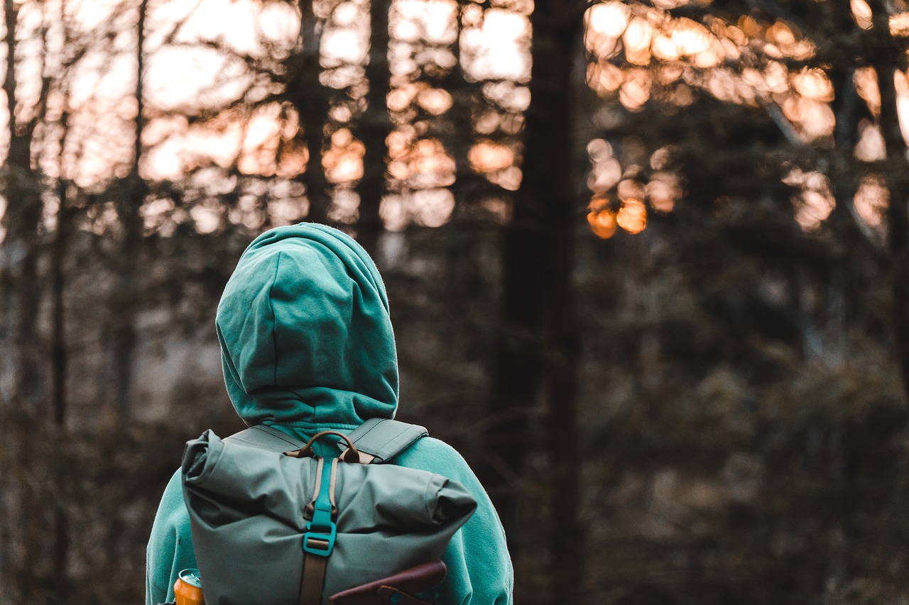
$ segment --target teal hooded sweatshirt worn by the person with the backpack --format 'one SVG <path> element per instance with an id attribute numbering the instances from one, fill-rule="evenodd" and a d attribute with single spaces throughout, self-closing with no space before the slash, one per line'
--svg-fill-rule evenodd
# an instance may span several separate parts
<path id="1" fill-rule="evenodd" d="M 225 286 L 215 325 L 227 393 L 247 425 L 307 441 L 318 431 L 348 432 L 368 418 L 395 416 L 397 358 L 385 285 L 345 233 L 300 223 L 255 238 Z M 335 455 L 316 445 L 320 455 Z M 445 550 L 448 576 L 438 602 L 511 603 L 514 573 L 502 524 L 460 454 L 424 438 L 392 462 L 458 481 L 478 502 Z M 148 541 L 145 605 L 173 600 L 177 573 L 195 567 L 176 471 Z"/>

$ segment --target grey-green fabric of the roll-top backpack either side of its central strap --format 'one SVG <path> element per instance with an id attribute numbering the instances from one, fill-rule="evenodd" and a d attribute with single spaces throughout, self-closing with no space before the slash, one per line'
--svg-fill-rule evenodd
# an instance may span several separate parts
<path id="1" fill-rule="evenodd" d="M 298 602 L 305 510 L 322 480 L 320 460 L 222 441 L 212 431 L 187 443 L 184 499 L 209 605 Z M 463 486 L 431 472 L 338 461 L 335 474 L 323 605 L 329 595 L 440 559 L 476 508 Z"/>

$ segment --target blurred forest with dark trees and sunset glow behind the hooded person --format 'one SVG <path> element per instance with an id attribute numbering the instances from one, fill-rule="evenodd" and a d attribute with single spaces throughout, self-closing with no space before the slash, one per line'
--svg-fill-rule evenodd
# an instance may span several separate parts
<path id="1" fill-rule="evenodd" d="M 519 603 L 909 602 L 904 0 L 5 0 L 0 603 L 141 602 L 257 233 L 372 253 Z"/>

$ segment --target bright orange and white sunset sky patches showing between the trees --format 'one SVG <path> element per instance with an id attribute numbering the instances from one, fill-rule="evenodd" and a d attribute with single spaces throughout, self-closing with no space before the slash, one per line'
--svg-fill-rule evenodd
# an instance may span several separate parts
<path id="1" fill-rule="evenodd" d="M 684 106 L 691 103 L 691 89 L 701 88 L 724 102 L 765 107 L 798 144 L 826 146 L 834 130 L 834 89 L 824 70 L 812 64 L 815 41 L 784 19 L 760 22 L 744 15 L 734 23 L 719 17 L 698 22 L 668 12 L 686 4 L 611 1 L 591 6 L 584 15 L 590 89 L 604 102 L 618 102 L 634 112 L 654 98 Z M 325 174 L 335 185 L 333 212 L 344 222 L 356 213 L 355 195 L 349 192 L 363 170 L 363 144 L 348 124 L 356 111 L 350 103 L 362 103 L 356 95 L 363 94 L 365 86 L 368 7 L 355 1 L 322 2 L 315 10 L 325 19 L 324 83 L 353 91 L 346 103 L 332 109 L 326 125 L 330 146 L 323 158 Z M 392 89 L 387 101 L 397 125 L 388 139 L 387 170 L 397 185 L 385 197 L 387 228 L 401 229 L 414 220 L 437 226 L 454 207 L 445 189 L 454 181 L 451 150 L 439 138 L 421 132 L 427 120 L 415 117 L 415 112 L 425 112 L 431 119 L 451 111 L 452 95 L 413 76 L 417 60 L 450 68 L 457 60 L 451 51 L 454 42 L 460 46 L 465 77 L 486 82 L 483 92 L 498 107 L 474 114 L 470 166 L 505 190 L 517 189 L 521 147 L 515 135 L 530 101 L 525 84 L 530 77 L 531 10 L 528 2 L 494 3 L 488 9 L 467 3 L 458 15 L 458 5 L 445 0 L 394 3 L 389 21 Z M 869 29 L 871 10 L 864 0 L 854 0 L 852 10 L 856 24 Z M 20 113 L 37 111 L 40 74 L 51 82 L 38 134 L 44 141 L 38 158 L 42 170 L 50 177 L 63 174 L 89 189 L 125 174 L 136 112 L 136 6 L 56 0 L 26 2 L 20 12 L 22 43 L 16 51 L 22 56 Z M 280 71 L 278 62 L 295 45 L 299 18 L 294 5 L 282 2 L 149 5 L 140 162 L 146 179 L 180 180 L 195 173 L 197 180 L 207 180 L 207 186 L 218 190 L 225 185 L 215 182 L 230 178 L 223 171 L 231 167 L 239 174 L 286 180 L 305 172 L 306 149 L 295 138 L 298 117 L 286 104 L 268 100 L 276 85 L 268 81 L 269 74 Z M 890 25 L 893 35 L 909 35 L 909 13 L 892 15 Z M 857 69 L 854 83 L 876 114 L 880 99 L 874 70 Z M 909 81 L 901 72 L 895 84 L 901 122 L 906 124 Z M 71 132 L 61 153 L 59 123 L 64 113 Z M 684 175 L 657 168 L 661 153 L 657 150 L 650 159 L 649 179 L 639 182 L 626 178 L 635 170 L 614 156 L 610 143 L 594 139 L 588 145 L 593 195 L 589 221 L 594 233 L 608 237 L 614 225 L 639 233 L 648 212 L 672 211 L 684 193 Z M 875 124 L 861 124 L 854 157 L 863 162 L 884 157 L 883 138 Z M 805 229 L 817 227 L 832 211 L 834 199 L 824 174 L 795 168 L 786 183 L 801 192 L 794 203 Z M 286 189 L 274 201 L 277 223 L 305 214 L 305 193 L 290 185 Z M 885 205 L 884 189 L 868 176 L 854 196 L 856 213 L 877 229 Z M 162 223 L 157 214 L 165 206 L 160 200 L 145 203 L 147 228 Z M 211 231 L 220 212 L 211 204 L 200 205 L 190 219 L 200 232 Z M 101 213 L 93 228 L 104 228 L 110 219 Z"/>

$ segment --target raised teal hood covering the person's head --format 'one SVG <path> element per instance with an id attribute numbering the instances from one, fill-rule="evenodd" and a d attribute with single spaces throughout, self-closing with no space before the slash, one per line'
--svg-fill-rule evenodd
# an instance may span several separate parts
<path id="1" fill-rule="evenodd" d="M 247 425 L 342 428 L 392 418 L 395 336 L 375 263 L 315 223 L 246 248 L 215 318 L 225 382 Z"/>

